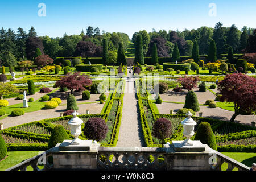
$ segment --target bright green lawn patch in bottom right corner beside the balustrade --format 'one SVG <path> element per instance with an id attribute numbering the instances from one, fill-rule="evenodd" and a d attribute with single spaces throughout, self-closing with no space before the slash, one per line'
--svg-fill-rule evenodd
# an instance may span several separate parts
<path id="1" fill-rule="evenodd" d="M 251 164 L 255 163 L 256 161 L 256 153 L 222 152 L 222 154 L 229 156 L 230 158 L 237 160 L 238 162 L 241 162 L 242 164 L 245 164 L 248 167 L 251 167 Z M 221 170 L 226 169 L 228 169 L 228 164 L 224 163 L 221 166 Z M 235 168 L 234 171 L 238 171 L 238 169 Z"/>

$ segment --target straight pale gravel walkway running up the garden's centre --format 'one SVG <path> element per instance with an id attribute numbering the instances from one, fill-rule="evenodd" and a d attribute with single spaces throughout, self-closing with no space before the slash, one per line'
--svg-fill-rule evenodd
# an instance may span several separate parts
<path id="1" fill-rule="evenodd" d="M 135 98 L 134 83 L 134 78 L 126 78 L 122 122 L 117 147 L 145 147 L 141 129 L 141 119 L 139 117 L 138 101 Z"/>

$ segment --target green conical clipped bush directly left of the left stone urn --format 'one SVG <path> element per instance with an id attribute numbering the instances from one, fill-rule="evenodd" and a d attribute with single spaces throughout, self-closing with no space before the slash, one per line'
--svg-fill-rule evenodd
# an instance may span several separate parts
<path id="1" fill-rule="evenodd" d="M 62 143 L 65 139 L 69 139 L 69 136 L 64 127 L 62 125 L 56 125 L 49 139 L 48 149 L 55 147 L 57 143 Z"/>

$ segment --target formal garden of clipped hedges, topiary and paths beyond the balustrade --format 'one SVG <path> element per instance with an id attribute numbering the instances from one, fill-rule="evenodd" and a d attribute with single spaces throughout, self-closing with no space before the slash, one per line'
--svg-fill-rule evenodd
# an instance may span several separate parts
<path id="1" fill-rule="evenodd" d="M 233 53 L 232 45 L 220 52 L 209 40 L 202 55 L 197 40 L 190 40 L 188 51 L 181 40 L 163 44 L 160 33 L 150 33 L 137 32 L 130 41 L 123 33 L 81 32 L 71 54 L 64 53 L 68 48 L 52 53 L 46 37 L 31 36 L 27 60 L 10 52 L 0 55 L 0 170 L 73 139 L 68 121 L 74 111 L 83 121 L 79 138 L 109 147 L 163 147 L 184 140 L 181 121 L 189 111 L 197 123 L 192 140 L 251 167 L 256 158 L 256 57 L 251 51 L 256 31 L 247 36 L 246 53 L 238 48 Z M 122 134 L 125 139 L 119 138 Z"/>

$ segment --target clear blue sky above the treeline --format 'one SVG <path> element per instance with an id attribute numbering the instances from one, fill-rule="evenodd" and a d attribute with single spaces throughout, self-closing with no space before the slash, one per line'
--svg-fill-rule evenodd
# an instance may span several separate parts
<path id="1" fill-rule="evenodd" d="M 46 17 L 38 16 L 38 4 L 46 4 Z M 217 16 L 209 16 L 210 3 L 215 3 Z M 125 32 L 131 38 L 134 32 L 155 28 L 183 31 L 214 27 L 222 22 L 225 27 L 235 24 L 256 28 L 255 0 L 30 0 L 0 2 L 0 27 L 18 27 L 29 30 L 34 26 L 38 36 L 55 38 L 86 32 L 88 26 L 106 32 Z"/>

